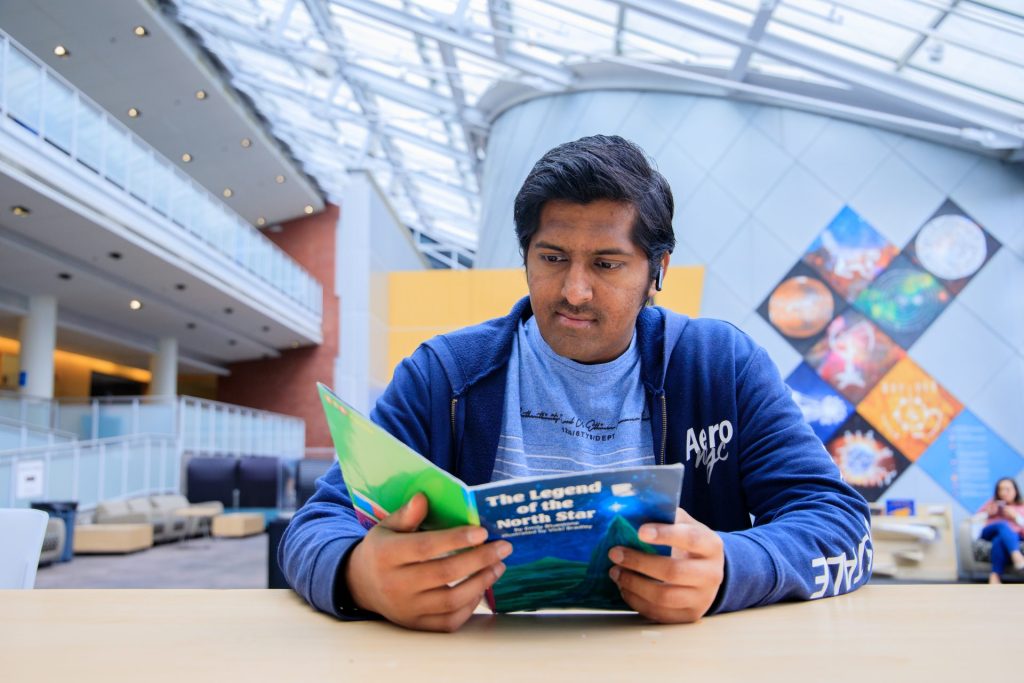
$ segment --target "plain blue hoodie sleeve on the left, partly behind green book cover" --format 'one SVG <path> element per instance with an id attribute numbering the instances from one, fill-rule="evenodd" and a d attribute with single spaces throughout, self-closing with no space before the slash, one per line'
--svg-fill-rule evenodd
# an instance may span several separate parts
<path id="1" fill-rule="evenodd" d="M 427 444 L 428 384 L 423 351 L 395 369 L 371 419 L 411 447 L 424 453 Z M 341 605 L 351 604 L 342 569 L 349 553 L 366 536 L 338 463 L 316 480 L 316 493 L 295 513 L 278 548 L 278 562 L 288 583 L 316 609 L 342 618 L 366 617 Z"/>

